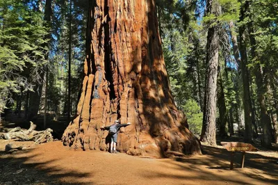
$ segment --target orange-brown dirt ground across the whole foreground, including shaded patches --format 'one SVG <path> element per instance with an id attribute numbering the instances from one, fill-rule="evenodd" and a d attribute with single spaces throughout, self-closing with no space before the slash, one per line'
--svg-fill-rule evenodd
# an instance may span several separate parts
<path id="1" fill-rule="evenodd" d="M 33 145 L 7 154 L 0 140 L 0 184 L 278 184 L 278 153 L 248 152 L 245 168 L 236 153 L 203 146 L 202 156 L 150 159 L 101 151 L 72 151 L 60 141 Z"/>

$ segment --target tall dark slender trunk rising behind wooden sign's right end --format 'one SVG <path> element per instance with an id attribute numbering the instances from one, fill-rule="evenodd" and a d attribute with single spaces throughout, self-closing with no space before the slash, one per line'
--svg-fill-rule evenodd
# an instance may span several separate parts
<path id="1" fill-rule="evenodd" d="M 240 7 L 240 22 L 246 17 L 246 7 L 243 4 Z M 245 24 L 239 27 L 239 42 L 240 42 L 240 70 L 243 78 L 243 108 L 244 108 L 244 120 L 245 120 L 245 142 L 252 142 L 252 105 L 250 99 L 249 89 L 249 74 L 247 69 L 247 53 L 246 53 L 246 35 L 245 35 Z"/>

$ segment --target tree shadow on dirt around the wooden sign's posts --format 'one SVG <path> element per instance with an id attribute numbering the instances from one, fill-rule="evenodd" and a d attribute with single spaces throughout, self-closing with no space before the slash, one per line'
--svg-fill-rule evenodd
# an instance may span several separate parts
<path id="1" fill-rule="evenodd" d="M 202 147 L 204 151 L 202 156 L 174 158 L 174 161 L 163 162 L 163 166 L 177 170 L 179 174 L 146 170 L 141 175 L 147 175 L 149 179 L 186 180 L 188 184 L 202 184 L 203 182 L 209 184 L 213 181 L 227 182 L 227 184 L 278 184 L 277 158 L 247 152 L 245 168 L 241 168 L 242 155 L 241 152 L 236 152 L 234 169 L 230 170 L 230 153 L 227 150 Z"/>

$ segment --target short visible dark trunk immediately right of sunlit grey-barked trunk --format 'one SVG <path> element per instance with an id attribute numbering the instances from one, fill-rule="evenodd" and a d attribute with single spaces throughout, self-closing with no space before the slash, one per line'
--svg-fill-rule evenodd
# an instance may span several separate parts
<path id="1" fill-rule="evenodd" d="M 218 108 L 220 117 L 220 136 L 225 137 L 228 136 L 229 127 L 221 74 L 219 74 L 218 77 Z"/>

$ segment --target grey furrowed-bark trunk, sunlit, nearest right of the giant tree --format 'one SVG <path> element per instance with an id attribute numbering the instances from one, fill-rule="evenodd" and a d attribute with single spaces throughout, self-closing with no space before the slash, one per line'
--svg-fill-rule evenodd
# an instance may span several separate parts
<path id="1" fill-rule="evenodd" d="M 215 13 L 213 0 L 207 1 L 207 13 Z M 216 8 L 215 8 L 216 9 Z M 204 117 L 201 140 L 208 145 L 216 145 L 216 88 L 218 77 L 218 27 L 208 29 L 206 45 L 206 85 L 204 92 Z"/>

